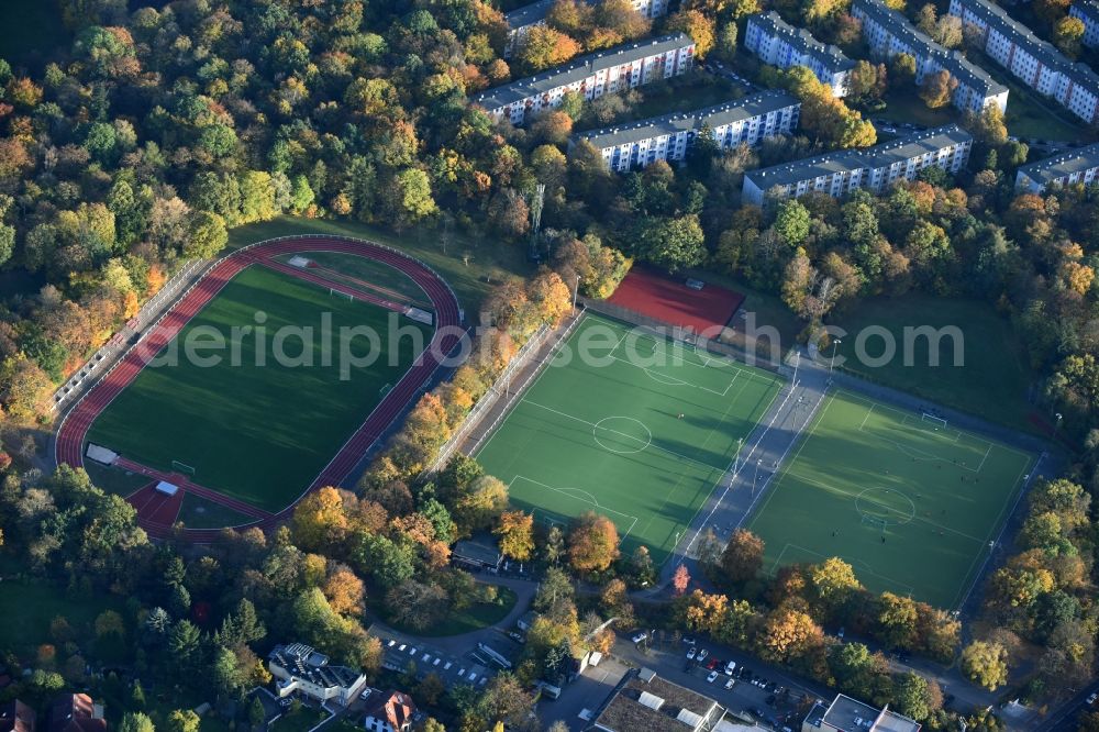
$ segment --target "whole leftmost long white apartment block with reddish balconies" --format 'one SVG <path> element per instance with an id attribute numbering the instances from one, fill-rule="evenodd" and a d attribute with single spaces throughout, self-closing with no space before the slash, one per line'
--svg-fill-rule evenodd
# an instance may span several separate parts
<path id="1" fill-rule="evenodd" d="M 565 66 L 487 89 L 473 101 L 496 120 L 522 124 L 531 114 L 560 107 L 568 91 L 591 100 L 679 76 L 693 63 L 695 42 L 686 33 L 676 33 L 575 58 Z"/>

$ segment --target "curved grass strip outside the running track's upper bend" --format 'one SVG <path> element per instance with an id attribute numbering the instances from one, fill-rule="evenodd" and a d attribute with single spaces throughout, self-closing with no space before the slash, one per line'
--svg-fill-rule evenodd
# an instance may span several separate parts
<path id="1" fill-rule="evenodd" d="M 501 280 L 515 275 L 525 277 L 533 271 L 526 262 L 525 246 L 508 246 L 493 239 L 470 236 L 457 228 L 451 230 L 444 251 L 442 230 L 418 226 L 395 234 L 349 221 L 280 217 L 275 221 L 237 226 L 230 232 L 229 243 L 231 247 L 241 247 L 275 236 L 303 234 L 369 239 L 419 257 L 449 284 L 466 312 L 476 312 Z"/>

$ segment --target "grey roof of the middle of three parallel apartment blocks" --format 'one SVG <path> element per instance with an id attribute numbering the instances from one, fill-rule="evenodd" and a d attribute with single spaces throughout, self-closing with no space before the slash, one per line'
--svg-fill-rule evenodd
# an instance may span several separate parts
<path id="1" fill-rule="evenodd" d="M 692 110 L 676 112 L 663 117 L 653 117 L 613 127 L 589 130 L 577 134 L 580 140 L 587 140 L 597 148 L 611 147 L 648 140 L 658 135 L 670 135 L 678 132 L 699 130 L 708 124 L 711 130 L 732 122 L 748 120 L 759 114 L 767 114 L 801 102 L 797 97 L 786 91 L 770 90 L 744 97 L 734 101 Z"/>

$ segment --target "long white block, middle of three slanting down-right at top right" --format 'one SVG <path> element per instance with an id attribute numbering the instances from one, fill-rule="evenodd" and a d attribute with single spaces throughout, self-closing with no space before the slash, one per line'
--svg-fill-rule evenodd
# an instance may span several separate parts
<path id="1" fill-rule="evenodd" d="M 951 97 L 954 107 L 963 111 L 981 112 L 989 104 L 1000 111 L 1008 108 L 1008 88 L 996 81 L 983 68 L 970 64 L 957 51 L 947 51 L 908 22 L 900 12 L 887 8 L 880 0 L 855 0 L 851 14 L 863 23 L 863 38 L 877 58 L 909 54 L 915 58 L 915 82 L 923 84 L 929 74 L 947 71 L 958 86 Z"/>

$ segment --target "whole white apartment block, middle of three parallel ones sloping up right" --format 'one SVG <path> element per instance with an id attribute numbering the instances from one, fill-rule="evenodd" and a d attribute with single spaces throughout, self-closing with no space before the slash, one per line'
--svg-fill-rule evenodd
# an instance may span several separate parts
<path id="1" fill-rule="evenodd" d="M 699 133 L 709 127 L 721 149 L 758 145 L 789 134 L 798 125 L 801 101 L 785 91 L 764 91 L 717 107 L 666 114 L 625 125 L 592 130 L 575 141 L 595 145 L 607 167 L 628 173 L 656 160 L 681 160 Z"/>

